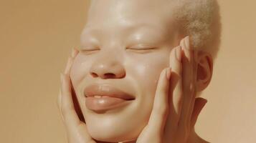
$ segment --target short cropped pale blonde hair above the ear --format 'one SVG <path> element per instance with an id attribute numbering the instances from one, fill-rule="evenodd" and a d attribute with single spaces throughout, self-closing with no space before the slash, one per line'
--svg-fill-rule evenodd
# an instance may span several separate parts
<path id="1" fill-rule="evenodd" d="M 194 49 L 208 51 L 213 59 L 219 51 L 221 23 L 216 0 L 173 0 L 174 17 L 191 36 Z"/>

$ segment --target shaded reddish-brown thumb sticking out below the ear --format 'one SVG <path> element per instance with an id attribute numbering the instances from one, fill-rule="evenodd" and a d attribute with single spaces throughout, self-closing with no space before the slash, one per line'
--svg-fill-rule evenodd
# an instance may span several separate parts
<path id="1" fill-rule="evenodd" d="M 202 111 L 204 105 L 207 104 L 207 99 L 202 97 L 197 97 L 194 102 L 194 109 L 191 116 L 191 128 L 196 124 L 196 120 L 199 117 L 200 112 Z"/>

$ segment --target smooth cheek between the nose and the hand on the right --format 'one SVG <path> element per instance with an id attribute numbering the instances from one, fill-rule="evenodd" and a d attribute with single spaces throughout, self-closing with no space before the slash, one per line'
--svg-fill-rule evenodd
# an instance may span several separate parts
<path id="1" fill-rule="evenodd" d="M 127 78 L 135 84 L 138 109 L 150 112 L 161 71 L 169 66 L 169 54 L 161 52 L 127 60 Z"/>

